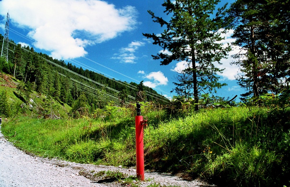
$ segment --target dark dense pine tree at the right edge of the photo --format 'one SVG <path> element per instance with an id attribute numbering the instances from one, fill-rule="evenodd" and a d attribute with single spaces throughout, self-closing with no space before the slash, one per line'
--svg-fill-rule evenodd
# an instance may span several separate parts
<path id="1" fill-rule="evenodd" d="M 247 90 L 242 94 L 246 99 L 278 94 L 289 83 L 289 6 L 289 1 L 282 0 L 238 0 L 231 4 L 233 44 L 245 51 L 234 55 L 234 64 L 241 67 L 243 74 L 238 81 Z"/>

